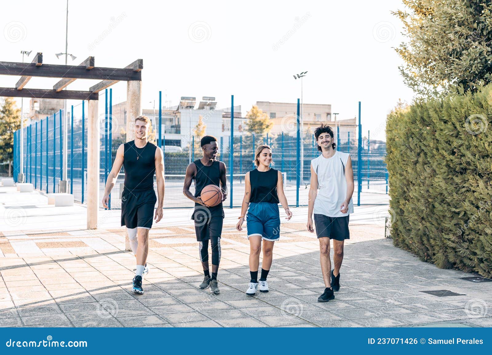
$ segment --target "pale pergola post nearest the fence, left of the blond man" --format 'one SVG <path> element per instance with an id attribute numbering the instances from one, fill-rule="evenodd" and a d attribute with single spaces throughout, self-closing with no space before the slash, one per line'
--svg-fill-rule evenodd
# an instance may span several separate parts
<path id="1" fill-rule="evenodd" d="M 99 212 L 99 115 L 98 100 L 89 100 L 87 117 L 87 229 L 97 229 Z"/>

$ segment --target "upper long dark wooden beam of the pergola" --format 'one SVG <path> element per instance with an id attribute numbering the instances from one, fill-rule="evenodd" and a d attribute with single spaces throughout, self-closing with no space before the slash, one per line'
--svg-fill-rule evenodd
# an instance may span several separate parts
<path id="1" fill-rule="evenodd" d="M 36 66 L 34 63 L 26 65 L 26 63 L 3 61 L 0 61 L 0 75 L 118 81 L 142 80 L 140 71 L 134 71 L 131 68 L 93 67 L 92 70 L 86 70 L 85 67 L 73 65 L 43 64 L 42 66 Z"/>

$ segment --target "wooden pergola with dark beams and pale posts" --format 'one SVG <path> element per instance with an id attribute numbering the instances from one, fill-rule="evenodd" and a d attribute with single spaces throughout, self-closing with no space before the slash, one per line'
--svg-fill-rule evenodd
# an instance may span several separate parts
<path id="1" fill-rule="evenodd" d="M 143 60 L 137 59 L 124 68 L 94 66 L 90 56 L 80 65 L 43 64 L 43 54 L 37 53 L 31 63 L 0 61 L 0 75 L 21 78 L 15 87 L 0 87 L 0 96 L 45 99 L 88 100 L 87 122 L 87 229 L 97 228 L 99 210 L 99 115 L 98 92 L 126 81 L 126 140 L 132 140 L 133 121 L 141 114 Z M 32 77 L 60 78 L 52 89 L 29 89 L 25 85 Z M 89 91 L 63 90 L 77 79 L 99 80 Z M 66 112 L 65 112 L 66 115 Z M 66 139 L 67 137 L 64 137 Z M 64 152 L 66 156 L 67 152 Z"/>

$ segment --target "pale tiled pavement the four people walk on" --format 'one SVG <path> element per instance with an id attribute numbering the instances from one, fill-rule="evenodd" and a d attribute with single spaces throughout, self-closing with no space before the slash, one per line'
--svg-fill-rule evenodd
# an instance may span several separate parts
<path id="1" fill-rule="evenodd" d="M 421 262 L 381 239 L 384 228 L 370 216 L 358 223 L 357 210 L 340 291 L 335 300 L 319 303 L 318 243 L 304 230 L 305 209 L 282 224 L 268 278 L 271 291 L 256 297 L 244 293 L 249 247 L 244 233 L 233 229 L 239 211 L 226 212 L 221 294 L 212 296 L 197 288 L 203 276 L 187 212 L 166 210 L 168 217 L 152 230 L 145 294 L 134 295 L 129 290 L 135 259 L 122 250 L 124 230 L 113 220 L 119 211 L 101 211 L 101 228 L 87 231 L 80 227 L 83 207 L 60 211 L 43 205 L 42 197 L 31 196 L 31 208 L 16 200 L 15 211 L 8 208 L 11 198 L 0 197 L 7 222 L 0 234 L 1 327 L 492 326 L 492 282 L 465 281 L 460 278 L 473 275 Z M 32 203 L 36 198 L 39 203 Z M 421 292 L 443 289 L 461 296 Z"/>

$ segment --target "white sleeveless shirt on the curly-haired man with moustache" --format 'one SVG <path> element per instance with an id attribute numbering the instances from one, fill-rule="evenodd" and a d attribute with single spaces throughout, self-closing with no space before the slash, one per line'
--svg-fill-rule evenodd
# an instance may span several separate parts
<path id="1" fill-rule="evenodd" d="M 340 212 L 340 206 L 347 196 L 347 181 L 345 166 L 350 154 L 336 151 L 333 157 L 323 155 L 313 159 L 311 166 L 318 175 L 318 194 L 314 200 L 313 212 L 328 217 L 343 217 L 354 213 L 352 198 L 348 204 L 347 213 Z"/>

